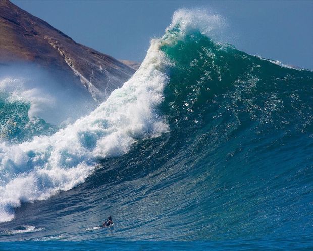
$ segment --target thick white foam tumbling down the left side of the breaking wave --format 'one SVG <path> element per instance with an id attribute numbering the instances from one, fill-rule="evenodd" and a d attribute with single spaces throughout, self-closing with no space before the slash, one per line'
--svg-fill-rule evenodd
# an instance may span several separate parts
<path id="1" fill-rule="evenodd" d="M 0 221 L 14 217 L 13 208 L 69 190 L 95 170 L 98 160 L 129 151 L 138 139 L 168 130 L 156 106 L 163 101 L 168 62 L 151 47 L 134 76 L 90 115 L 50 137 L 17 145 L 0 143 Z"/>

